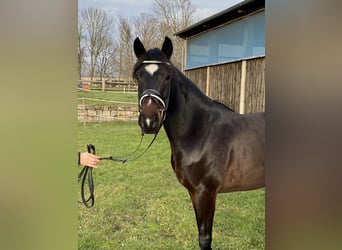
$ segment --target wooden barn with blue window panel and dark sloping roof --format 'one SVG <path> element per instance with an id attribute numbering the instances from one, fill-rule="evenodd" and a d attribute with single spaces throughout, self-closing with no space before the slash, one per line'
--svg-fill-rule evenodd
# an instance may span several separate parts
<path id="1" fill-rule="evenodd" d="M 241 114 L 265 110 L 265 1 L 245 0 L 175 34 L 183 71 Z"/>

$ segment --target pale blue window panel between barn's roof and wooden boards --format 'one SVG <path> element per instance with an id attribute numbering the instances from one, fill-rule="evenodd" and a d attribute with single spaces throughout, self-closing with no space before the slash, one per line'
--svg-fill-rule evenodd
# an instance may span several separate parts
<path id="1" fill-rule="evenodd" d="M 265 11 L 188 40 L 186 68 L 265 55 Z"/>

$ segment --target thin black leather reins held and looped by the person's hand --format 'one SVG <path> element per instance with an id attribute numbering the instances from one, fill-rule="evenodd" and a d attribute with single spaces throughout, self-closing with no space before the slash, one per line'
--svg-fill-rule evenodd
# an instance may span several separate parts
<path id="1" fill-rule="evenodd" d="M 129 156 L 134 155 L 139 150 L 144 134 L 141 135 L 140 143 L 139 143 L 137 149 L 134 152 L 132 152 L 131 154 L 129 154 L 128 156 L 126 156 L 126 157 L 113 157 L 113 156 L 100 157 L 99 160 L 111 160 L 111 161 L 122 162 L 122 163 L 126 163 L 127 161 L 136 160 L 136 159 L 140 158 L 143 154 L 145 154 L 146 151 L 152 146 L 157 135 L 158 135 L 158 133 L 154 134 L 154 137 L 153 137 L 151 143 L 147 146 L 147 148 L 141 154 L 139 154 L 136 157 L 128 158 Z M 88 149 L 88 153 L 96 154 L 94 145 L 88 144 L 87 149 Z M 78 183 L 80 183 L 80 180 L 82 180 L 81 181 L 81 199 L 82 199 L 82 201 L 79 201 L 79 202 L 83 203 L 87 208 L 91 208 L 92 206 L 94 206 L 94 203 L 95 203 L 94 181 L 93 181 L 93 172 L 92 171 L 93 171 L 92 167 L 84 166 L 83 169 L 81 170 L 81 172 L 78 174 Z M 85 183 L 86 183 L 87 177 L 88 177 L 88 188 L 89 188 L 89 197 L 88 198 L 85 197 Z"/>

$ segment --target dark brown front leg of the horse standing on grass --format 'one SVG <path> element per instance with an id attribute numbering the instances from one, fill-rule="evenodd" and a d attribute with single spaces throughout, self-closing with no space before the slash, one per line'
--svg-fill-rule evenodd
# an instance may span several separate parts
<path id="1" fill-rule="evenodd" d="M 217 194 L 206 189 L 189 193 L 196 214 L 199 246 L 201 250 L 211 250 Z"/>

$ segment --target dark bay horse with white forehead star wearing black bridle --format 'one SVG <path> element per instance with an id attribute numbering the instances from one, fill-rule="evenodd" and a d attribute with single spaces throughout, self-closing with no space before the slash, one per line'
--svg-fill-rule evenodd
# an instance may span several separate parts
<path id="1" fill-rule="evenodd" d="M 145 50 L 134 41 L 139 126 L 170 141 L 171 164 L 195 210 L 199 246 L 211 249 L 217 193 L 263 187 L 265 114 L 240 115 L 207 97 L 170 61 L 172 42 Z"/>

